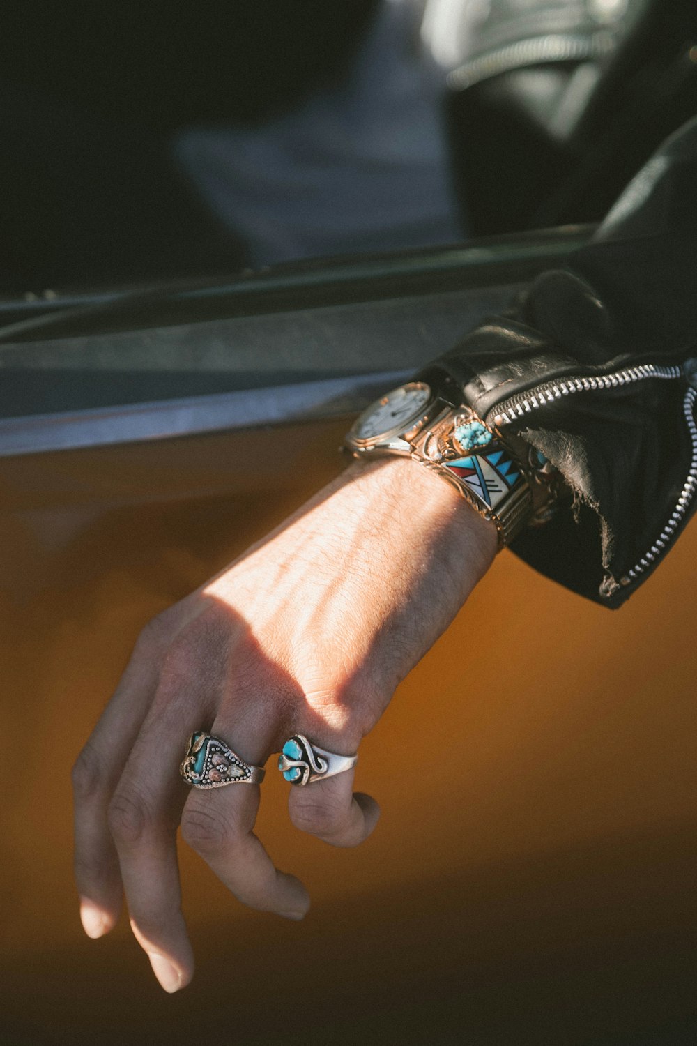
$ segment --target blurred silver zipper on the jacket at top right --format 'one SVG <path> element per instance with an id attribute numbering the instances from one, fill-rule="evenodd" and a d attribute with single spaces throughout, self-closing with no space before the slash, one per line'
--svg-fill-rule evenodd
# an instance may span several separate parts
<path id="1" fill-rule="evenodd" d="M 611 49 L 612 41 L 608 33 L 581 37 L 551 32 L 545 37 L 532 37 L 529 40 L 504 44 L 464 62 L 448 73 L 447 85 L 462 91 L 513 69 L 548 62 L 583 62 L 587 59 L 602 58 Z"/>

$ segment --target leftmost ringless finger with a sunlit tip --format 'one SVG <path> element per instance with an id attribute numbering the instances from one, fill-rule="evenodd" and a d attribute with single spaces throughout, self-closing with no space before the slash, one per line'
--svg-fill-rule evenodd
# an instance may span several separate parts
<path id="1" fill-rule="evenodd" d="M 121 908 L 121 877 L 108 808 L 155 693 L 157 662 L 157 652 L 144 634 L 72 770 L 74 871 L 89 937 L 108 933 Z"/>

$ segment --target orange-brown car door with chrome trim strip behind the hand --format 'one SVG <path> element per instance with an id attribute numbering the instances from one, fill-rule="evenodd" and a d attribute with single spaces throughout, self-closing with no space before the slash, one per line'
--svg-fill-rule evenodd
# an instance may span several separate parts
<path id="1" fill-rule="evenodd" d="M 382 821 L 355 852 L 295 832 L 269 775 L 259 833 L 309 887 L 303 924 L 182 846 L 181 998 L 127 926 L 82 935 L 71 878 L 69 770 L 143 624 L 335 475 L 376 393 L 587 235 L 3 302 L 4 1042 L 687 1041 L 694 528 L 621 614 L 498 556 L 362 747 Z"/>

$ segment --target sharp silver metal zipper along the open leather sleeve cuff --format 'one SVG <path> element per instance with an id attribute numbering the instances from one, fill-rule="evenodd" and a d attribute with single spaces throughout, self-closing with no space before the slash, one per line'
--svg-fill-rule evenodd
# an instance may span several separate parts
<path id="1" fill-rule="evenodd" d="M 567 395 L 576 395 L 577 392 L 603 391 L 610 388 L 619 388 L 623 385 L 631 385 L 635 382 L 648 379 L 664 379 L 675 381 L 679 378 L 688 378 L 689 387 L 682 402 L 684 419 L 692 440 L 692 459 L 679 497 L 675 507 L 661 529 L 660 533 L 644 553 L 642 559 L 627 571 L 619 581 L 607 574 L 600 589 L 600 594 L 604 598 L 609 598 L 620 588 L 636 582 L 650 567 L 666 554 L 677 530 L 684 521 L 688 511 L 697 493 L 697 424 L 695 423 L 695 402 L 697 401 L 697 364 L 693 360 L 682 366 L 657 366 L 654 363 L 643 363 L 635 367 L 625 367 L 623 370 L 615 370 L 608 374 L 596 376 L 593 378 L 563 378 L 558 381 L 543 382 L 536 388 L 519 395 L 510 396 L 503 403 L 493 407 L 486 416 L 488 425 L 496 428 L 504 428 L 511 422 L 516 422 L 526 414 L 532 413 L 539 407 L 555 403 L 557 400 Z"/>

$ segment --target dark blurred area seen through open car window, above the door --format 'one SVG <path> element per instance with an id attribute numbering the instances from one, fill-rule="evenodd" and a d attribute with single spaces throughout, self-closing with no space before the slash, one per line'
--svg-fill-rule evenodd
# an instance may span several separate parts
<path id="1" fill-rule="evenodd" d="M 0 289 L 598 221 L 697 109 L 692 0 L 26 0 Z"/>

